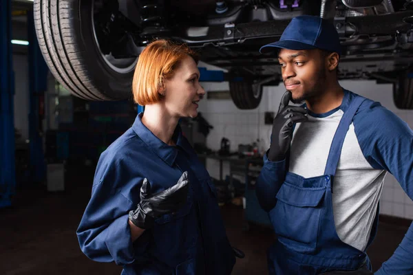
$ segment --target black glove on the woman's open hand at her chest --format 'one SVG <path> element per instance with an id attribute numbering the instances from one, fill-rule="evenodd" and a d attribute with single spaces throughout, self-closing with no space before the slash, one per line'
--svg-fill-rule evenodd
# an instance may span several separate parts
<path id="1" fill-rule="evenodd" d="M 155 195 L 150 195 L 151 186 L 145 178 L 140 188 L 140 203 L 136 210 L 129 212 L 129 219 L 138 228 L 149 229 L 153 227 L 155 219 L 164 214 L 176 212 L 185 205 L 188 188 L 188 173 L 184 172 L 176 185 Z"/>

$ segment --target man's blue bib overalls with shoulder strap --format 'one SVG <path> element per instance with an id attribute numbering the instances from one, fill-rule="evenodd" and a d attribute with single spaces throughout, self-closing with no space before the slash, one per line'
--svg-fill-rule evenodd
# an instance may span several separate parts
<path id="1" fill-rule="evenodd" d="M 365 98 L 357 96 L 343 114 L 332 140 L 324 175 L 304 178 L 288 172 L 270 212 L 277 241 L 268 250 L 270 274 L 313 275 L 331 271 L 371 270 L 366 251 L 343 243 L 332 211 L 334 177 L 346 133 Z M 368 245 L 377 232 L 374 219 Z M 367 246 L 368 246 L 367 245 Z"/>

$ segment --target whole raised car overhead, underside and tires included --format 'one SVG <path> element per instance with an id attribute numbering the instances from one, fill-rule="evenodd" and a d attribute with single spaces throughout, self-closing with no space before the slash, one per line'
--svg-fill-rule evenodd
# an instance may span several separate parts
<path id="1" fill-rule="evenodd" d="M 405 0 L 35 0 L 39 45 L 54 76 L 87 100 L 130 98 L 137 58 L 153 39 L 187 43 L 200 60 L 227 70 L 240 109 L 277 85 L 275 42 L 293 17 L 328 19 L 339 32 L 340 79 L 394 84 L 394 101 L 413 108 L 413 1 Z M 254 85 L 255 84 L 255 85 Z"/>

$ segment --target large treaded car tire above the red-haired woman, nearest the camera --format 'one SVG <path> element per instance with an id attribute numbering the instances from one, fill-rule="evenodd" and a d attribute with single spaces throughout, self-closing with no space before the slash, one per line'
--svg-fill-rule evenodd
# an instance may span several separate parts
<path id="1" fill-rule="evenodd" d="M 131 98 L 137 58 L 111 66 L 94 32 L 94 0 L 35 0 L 39 47 L 50 71 L 74 96 L 85 100 Z M 122 67 L 123 66 L 123 67 Z"/>

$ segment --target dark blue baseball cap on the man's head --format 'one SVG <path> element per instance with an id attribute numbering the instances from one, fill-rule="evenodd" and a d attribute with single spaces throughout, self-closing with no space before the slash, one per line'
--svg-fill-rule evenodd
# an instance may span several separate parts
<path id="1" fill-rule="evenodd" d="M 340 38 L 334 25 L 311 15 L 294 17 L 279 41 L 262 46 L 260 53 L 272 52 L 274 47 L 288 50 L 320 49 L 341 55 Z"/>

